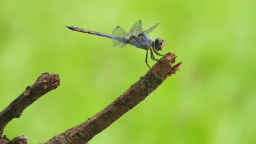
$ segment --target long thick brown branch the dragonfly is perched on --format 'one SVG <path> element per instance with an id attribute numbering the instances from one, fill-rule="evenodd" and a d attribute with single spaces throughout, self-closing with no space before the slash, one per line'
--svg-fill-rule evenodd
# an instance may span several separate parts
<path id="1" fill-rule="evenodd" d="M 54 136 L 45 144 L 51 143 L 85 143 L 92 139 L 95 135 L 106 129 L 110 124 L 119 117 L 131 110 L 138 103 L 144 100 L 152 93 L 161 83 L 171 74 L 176 73 L 182 62 L 176 65 L 175 53 L 167 53 L 162 57 L 145 76 L 134 83 L 125 93 L 115 99 L 111 104 L 102 111 L 96 113 L 95 116 L 88 121 L 81 123 L 71 129 L 67 129 L 65 133 Z"/>

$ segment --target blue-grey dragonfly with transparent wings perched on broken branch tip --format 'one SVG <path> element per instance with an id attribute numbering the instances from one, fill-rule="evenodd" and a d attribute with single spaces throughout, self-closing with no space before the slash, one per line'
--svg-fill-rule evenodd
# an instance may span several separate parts
<path id="1" fill-rule="evenodd" d="M 158 62 L 159 59 L 156 59 L 154 57 L 154 53 L 158 56 L 165 56 L 165 55 L 161 55 L 158 52 L 159 50 L 162 50 L 165 47 L 164 39 L 157 37 L 154 41 L 148 35 L 158 25 L 159 25 L 159 23 L 156 23 L 154 26 L 152 26 L 146 30 L 143 30 L 142 22 L 141 22 L 141 20 L 139 20 L 131 27 L 129 32 L 126 32 L 126 31 L 124 31 L 123 28 L 121 28 L 120 26 L 117 26 L 114 28 L 112 34 L 91 31 L 88 29 L 83 29 L 83 28 L 73 27 L 73 26 L 66 26 L 66 27 L 71 29 L 72 31 L 89 33 L 89 34 L 99 35 L 101 37 L 110 38 L 113 41 L 114 47 L 119 46 L 119 47 L 123 48 L 123 47 L 125 47 L 125 45 L 130 44 L 130 45 L 136 46 L 140 49 L 146 50 L 147 52 L 146 52 L 145 62 L 148 65 L 148 50 L 150 51 L 150 58 L 156 62 Z M 148 65 L 148 67 L 149 67 L 149 65 Z M 150 67 L 149 67 L 149 69 L 150 69 Z"/>

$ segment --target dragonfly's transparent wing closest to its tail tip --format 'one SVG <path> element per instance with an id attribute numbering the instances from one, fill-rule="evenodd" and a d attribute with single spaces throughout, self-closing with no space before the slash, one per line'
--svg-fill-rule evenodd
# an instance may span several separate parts
<path id="1" fill-rule="evenodd" d="M 119 47 L 123 48 L 123 47 L 125 47 L 126 44 L 124 44 L 123 42 L 121 42 L 121 41 L 119 41 L 119 40 L 117 40 L 115 38 L 118 38 L 118 37 L 130 38 L 131 35 L 129 33 L 125 32 L 123 28 L 118 26 L 118 27 L 114 28 L 114 30 L 112 32 L 112 37 L 113 37 L 112 38 L 113 46 L 115 47 L 115 46 L 118 45 Z"/>

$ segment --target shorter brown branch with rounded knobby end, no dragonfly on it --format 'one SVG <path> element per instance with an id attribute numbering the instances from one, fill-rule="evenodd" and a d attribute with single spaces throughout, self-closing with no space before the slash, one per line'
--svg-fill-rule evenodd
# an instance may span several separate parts
<path id="1" fill-rule="evenodd" d="M 4 138 L 3 130 L 13 118 L 19 118 L 22 112 L 45 93 L 57 88 L 60 78 L 57 74 L 42 73 L 37 81 L 26 88 L 13 102 L 0 112 L 0 139 Z"/>

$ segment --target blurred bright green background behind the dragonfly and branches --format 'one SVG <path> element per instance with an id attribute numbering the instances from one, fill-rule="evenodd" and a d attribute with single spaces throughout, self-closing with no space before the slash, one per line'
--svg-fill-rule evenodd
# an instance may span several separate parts
<path id="1" fill-rule="evenodd" d="M 256 143 L 256 1 L 2 1 L 0 109 L 41 71 L 61 85 L 4 130 L 10 139 L 49 140 L 84 122 L 126 91 L 148 67 L 146 51 L 70 31 L 111 33 L 138 20 L 182 61 L 162 83 L 90 143 Z M 159 58 L 159 57 L 158 57 Z M 149 61 L 153 65 L 154 61 Z"/>

